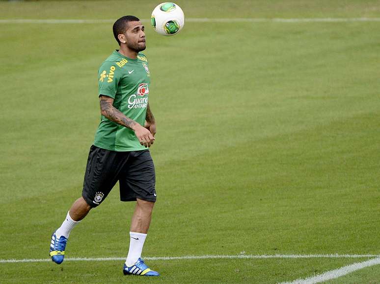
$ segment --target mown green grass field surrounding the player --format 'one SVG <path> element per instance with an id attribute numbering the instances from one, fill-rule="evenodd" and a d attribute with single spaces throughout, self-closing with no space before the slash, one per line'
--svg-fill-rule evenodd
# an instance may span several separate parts
<path id="1" fill-rule="evenodd" d="M 0 20 L 149 19 L 160 1 L 0 2 Z M 380 17 L 379 1 L 177 0 L 187 18 Z M 143 257 L 380 255 L 380 22 L 146 25 L 158 121 L 158 201 Z M 111 22 L 0 21 L 0 260 L 48 259 L 81 195 Z M 70 235 L 67 258 L 127 254 L 134 203 L 115 188 Z M 1 283 L 279 283 L 358 258 L 0 262 Z M 380 283 L 380 265 L 329 281 Z"/>

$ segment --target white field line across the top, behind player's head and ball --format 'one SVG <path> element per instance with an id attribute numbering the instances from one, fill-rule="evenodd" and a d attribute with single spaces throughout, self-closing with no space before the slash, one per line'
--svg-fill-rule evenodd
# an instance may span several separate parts
<path id="1" fill-rule="evenodd" d="M 0 24 L 103 24 L 114 23 L 115 20 L 84 19 L 0 19 Z M 150 23 L 150 19 L 141 19 Z M 186 18 L 193 23 L 347 23 L 347 22 L 380 22 L 380 18 Z"/>

